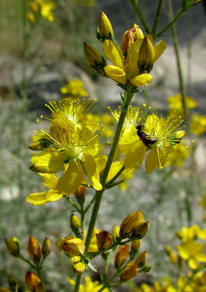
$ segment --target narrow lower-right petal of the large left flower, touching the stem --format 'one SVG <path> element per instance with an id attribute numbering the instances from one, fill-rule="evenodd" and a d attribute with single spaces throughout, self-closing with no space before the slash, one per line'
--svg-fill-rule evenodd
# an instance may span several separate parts
<path id="1" fill-rule="evenodd" d="M 99 182 L 99 173 L 97 170 L 96 162 L 94 160 L 94 157 L 92 157 L 90 154 L 84 153 L 82 154 L 82 161 L 84 161 L 84 168 L 87 173 L 87 176 L 89 178 L 89 181 L 91 185 L 94 187 L 95 190 L 99 191 L 102 189 L 102 185 Z"/>

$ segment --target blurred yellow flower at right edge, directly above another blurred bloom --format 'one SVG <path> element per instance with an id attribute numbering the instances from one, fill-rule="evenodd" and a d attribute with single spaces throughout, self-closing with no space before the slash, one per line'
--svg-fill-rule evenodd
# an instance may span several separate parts
<path id="1" fill-rule="evenodd" d="M 182 242 L 188 240 L 195 240 L 197 237 L 206 240 L 206 229 L 201 230 L 198 225 L 192 225 L 191 227 L 182 227 L 181 230 L 177 230 L 177 237 L 179 237 Z"/>

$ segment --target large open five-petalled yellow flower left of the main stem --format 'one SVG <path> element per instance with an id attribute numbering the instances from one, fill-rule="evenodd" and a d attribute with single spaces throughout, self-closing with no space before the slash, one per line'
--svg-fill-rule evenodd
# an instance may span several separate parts
<path id="1" fill-rule="evenodd" d="M 46 132 L 44 132 L 46 133 Z M 94 158 L 99 157 L 97 135 L 93 135 L 85 125 L 75 131 L 75 125 L 67 119 L 54 119 L 50 123 L 50 134 L 47 134 L 56 148 L 47 148 L 31 157 L 32 171 L 41 173 L 57 173 L 62 163 L 66 171 L 57 182 L 60 194 L 75 192 L 84 180 L 85 172 L 91 185 L 101 190 L 99 174 Z M 84 165 L 84 169 L 81 165 Z"/>

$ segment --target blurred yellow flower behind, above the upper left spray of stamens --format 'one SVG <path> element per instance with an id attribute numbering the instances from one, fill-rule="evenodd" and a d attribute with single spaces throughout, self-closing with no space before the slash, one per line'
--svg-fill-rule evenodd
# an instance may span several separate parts
<path id="1" fill-rule="evenodd" d="M 84 90 L 84 82 L 79 79 L 70 80 L 66 86 L 60 88 L 60 92 L 62 94 L 77 96 L 85 96 L 87 95 L 87 91 Z"/>

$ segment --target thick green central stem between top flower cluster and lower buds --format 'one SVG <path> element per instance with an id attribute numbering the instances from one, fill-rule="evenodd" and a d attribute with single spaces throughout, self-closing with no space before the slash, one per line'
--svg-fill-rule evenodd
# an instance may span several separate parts
<path id="1" fill-rule="evenodd" d="M 106 165 L 105 165 L 105 169 L 104 169 L 103 175 L 102 175 L 101 180 L 100 180 L 100 182 L 102 184 L 102 190 L 96 191 L 96 196 L 95 196 L 96 200 L 95 200 L 95 203 L 94 203 L 94 208 L 93 208 L 91 219 L 90 219 L 90 223 L 89 223 L 89 229 L 88 229 L 88 232 L 87 232 L 87 238 L 86 238 L 86 241 L 85 241 L 85 246 L 86 246 L 86 251 L 85 252 L 87 252 L 87 250 L 89 248 L 89 242 L 90 242 L 90 239 L 91 239 L 91 234 L 93 232 L 94 225 L 96 223 L 96 218 L 97 218 L 97 213 L 98 213 L 98 210 L 99 210 L 101 198 L 102 198 L 103 192 L 105 190 L 105 182 L 106 182 L 108 173 L 110 171 L 110 167 L 112 165 L 112 161 L 114 159 L 115 152 L 117 150 L 119 137 L 120 137 L 121 132 L 122 132 L 122 127 L 124 125 L 124 120 L 125 120 L 125 117 L 126 117 L 126 114 L 127 114 L 127 111 L 128 111 L 128 108 L 129 108 L 129 105 L 130 105 L 132 97 L 133 97 L 133 93 L 131 92 L 130 89 L 128 89 L 127 92 L 126 92 L 126 100 L 125 100 L 125 104 L 124 104 L 124 107 L 123 107 L 124 108 L 124 112 L 122 110 L 122 112 L 120 113 L 119 121 L 118 121 L 117 128 L 116 128 L 116 131 L 115 131 L 114 139 L 113 139 L 113 143 L 112 143 L 112 146 L 111 146 L 111 149 L 110 149 L 110 154 L 108 156 L 108 159 L 107 159 L 107 162 L 106 162 Z"/>

